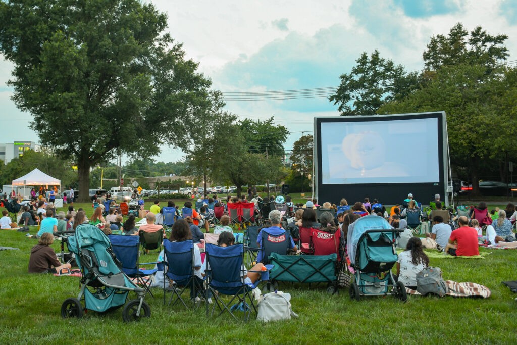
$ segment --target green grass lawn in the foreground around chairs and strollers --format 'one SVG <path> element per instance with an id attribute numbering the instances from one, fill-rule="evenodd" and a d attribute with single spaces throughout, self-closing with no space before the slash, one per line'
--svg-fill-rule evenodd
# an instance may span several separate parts
<path id="1" fill-rule="evenodd" d="M 76 204 L 87 214 L 89 204 Z M 34 233 L 34 232 L 32 232 Z M 351 301 L 347 291 L 328 295 L 325 286 L 290 286 L 298 319 L 262 324 L 207 318 L 204 310 L 186 311 L 163 306 L 162 291 L 146 297 L 151 318 L 122 321 L 121 309 L 83 319 L 63 320 L 60 306 L 77 297 L 79 278 L 29 275 L 29 252 L 34 239 L 16 231 L 0 231 L 0 245 L 20 250 L 0 251 L 0 343 L 404 343 L 514 344 L 517 302 L 501 281 L 517 279 L 517 250 L 493 250 L 486 259 L 431 259 L 445 279 L 483 284 L 488 299 L 408 296 Z M 53 245 L 59 251 L 59 243 Z M 483 249 L 482 249 L 483 250 Z M 143 260 L 155 260 L 147 254 Z M 130 293 L 130 298 L 134 297 Z"/>

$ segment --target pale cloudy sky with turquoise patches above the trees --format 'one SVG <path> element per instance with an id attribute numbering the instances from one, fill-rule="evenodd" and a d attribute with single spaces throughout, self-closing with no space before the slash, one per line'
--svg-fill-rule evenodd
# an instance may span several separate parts
<path id="1" fill-rule="evenodd" d="M 472 30 L 509 36 L 509 60 L 517 59 L 517 1 L 514 0 L 278 0 L 218 2 L 154 0 L 168 13 L 169 31 L 200 63 L 223 93 L 271 92 L 336 87 L 355 59 L 377 49 L 407 70 L 423 67 L 430 37 L 447 34 L 457 22 Z M 1 142 L 32 140 L 31 115 L 19 111 L 6 86 L 12 65 L 0 61 Z M 310 99 L 235 100 L 226 108 L 240 117 L 268 118 L 292 131 L 312 133 L 314 116 L 338 115 L 325 95 Z M 439 110 L 439 109 L 437 109 Z M 176 161 L 182 153 L 164 146 L 155 157 Z"/>

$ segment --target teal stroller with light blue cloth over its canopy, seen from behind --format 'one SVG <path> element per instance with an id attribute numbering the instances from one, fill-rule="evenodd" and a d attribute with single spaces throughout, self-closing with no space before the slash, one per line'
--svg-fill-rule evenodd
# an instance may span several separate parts
<path id="1" fill-rule="evenodd" d="M 348 227 L 347 252 L 355 269 L 350 298 L 393 295 L 406 301 L 404 284 L 391 273 L 398 259 L 395 240 L 402 231 L 379 216 L 361 217 Z"/>

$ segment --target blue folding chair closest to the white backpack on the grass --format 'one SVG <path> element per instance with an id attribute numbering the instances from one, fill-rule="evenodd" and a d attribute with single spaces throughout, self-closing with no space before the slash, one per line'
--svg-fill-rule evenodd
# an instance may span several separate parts
<path id="1" fill-rule="evenodd" d="M 235 320 L 238 320 L 233 312 L 241 310 L 244 311 L 244 319 L 248 321 L 252 308 L 255 313 L 257 313 L 251 292 L 262 280 L 269 279 L 269 269 L 272 266 L 267 267 L 267 271 L 261 271 L 261 278 L 257 279 L 257 281 L 250 286 L 243 281 L 243 277 L 246 276 L 245 267 L 242 264 L 244 261 L 244 245 L 237 244 L 234 246 L 219 247 L 207 243 L 205 252 L 205 260 L 207 260 L 205 273 L 208 279 L 208 289 L 215 297 L 210 316 L 214 314 L 217 305 L 220 310 L 218 316 L 224 311 L 227 311 Z M 218 291 L 218 294 L 216 291 Z M 230 299 L 230 302 L 224 303 L 221 299 L 222 295 L 233 297 Z M 235 304 L 233 304 L 234 301 L 236 302 Z M 208 315 L 208 304 L 206 306 L 206 313 Z"/>

